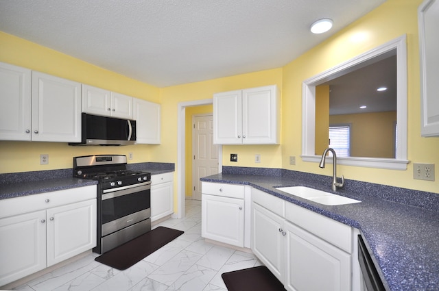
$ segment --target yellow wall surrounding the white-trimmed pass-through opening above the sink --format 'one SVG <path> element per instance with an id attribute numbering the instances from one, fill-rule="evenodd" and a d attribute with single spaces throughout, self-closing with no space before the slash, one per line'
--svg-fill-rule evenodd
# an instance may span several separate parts
<path id="1" fill-rule="evenodd" d="M 339 166 L 338 175 L 346 179 L 377 184 L 425 190 L 439 193 L 439 175 L 436 181 L 413 179 L 413 162 L 429 162 L 439 167 L 439 138 L 420 136 L 420 75 L 417 9 L 422 0 L 388 0 L 377 9 L 307 51 L 283 67 L 283 168 L 307 173 L 332 175 L 332 168 L 321 169 L 318 164 L 296 159 L 290 166 L 288 156 L 299 156 L 301 151 L 302 81 L 356 55 L 383 45 L 385 42 L 407 36 L 407 108 L 408 108 L 408 160 L 407 170 L 385 170 L 354 166 Z"/>

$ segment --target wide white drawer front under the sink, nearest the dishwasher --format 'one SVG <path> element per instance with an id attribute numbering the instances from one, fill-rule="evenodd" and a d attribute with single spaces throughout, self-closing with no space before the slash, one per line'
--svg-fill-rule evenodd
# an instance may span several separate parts
<path id="1" fill-rule="evenodd" d="M 352 253 L 352 227 L 289 202 L 285 203 L 285 218 L 338 248 Z"/>

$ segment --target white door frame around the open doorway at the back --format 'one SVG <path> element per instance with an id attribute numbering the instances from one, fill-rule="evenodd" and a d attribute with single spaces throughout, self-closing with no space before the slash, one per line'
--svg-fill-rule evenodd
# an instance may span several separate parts
<path id="1" fill-rule="evenodd" d="M 185 192 L 186 192 L 186 107 L 209 105 L 213 103 L 213 99 L 202 99 L 195 101 L 186 101 L 178 103 L 178 137 L 177 137 L 177 211 L 175 218 L 184 218 L 185 207 Z M 222 147 L 218 146 L 218 173 L 222 172 Z"/>

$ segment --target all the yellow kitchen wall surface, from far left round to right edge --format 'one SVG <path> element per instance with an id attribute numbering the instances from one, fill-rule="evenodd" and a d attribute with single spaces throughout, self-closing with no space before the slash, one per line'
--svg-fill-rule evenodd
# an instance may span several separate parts
<path id="1" fill-rule="evenodd" d="M 212 98 L 215 92 L 277 84 L 281 88 L 281 145 L 224 146 L 226 166 L 260 166 L 286 168 L 307 173 L 332 175 L 331 167 L 302 162 L 302 81 L 346 62 L 360 53 L 378 47 L 403 34 L 407 35 L 408 89 L 408 159 L 436 164 L 436 181 L 413 179 L 412 163 L 407 170 L 385 170 L 339 166 L 338 174 L 377 184 L 439 192 L 439 138 L 420 137 L 420 81 L 417 8 L 422 0 L 388 0 L 379 8 L 307 51 L 283 68 L 202 81 L 198 83 L 155 88 L 117 75 L 81 60 L 69 57 L 32 42 L 0 32 L 0 61 L 17 64 L 51 75 L 58 75 L 93 86 L 156 101 L 162 105 L 162 144 L 156 146 L 84 148 L 44 142 L 0 142 L 0 173 L 71 167 L 71 157 L 96 152 L 134 153 L 131 162 L 177 162 L 178 103 Z M 49 153 L 49 165 L 38 164 L 39 154 Z M 238 162 L 230 162 L 230 153 Z M 254 163 L 254 154 L 261 163 Z M 289 165 L 289 156 L 296 165 Z M 8 169 L 8 170 L 6 170 Z"/>

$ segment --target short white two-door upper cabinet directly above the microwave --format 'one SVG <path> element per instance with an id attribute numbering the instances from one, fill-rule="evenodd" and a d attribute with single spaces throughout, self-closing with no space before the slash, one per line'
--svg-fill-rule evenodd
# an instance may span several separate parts
<path id="1" fill-rule="evenodd" d="M 132 119 L 133 97 L 82 85 L 82 112 Z"/>

